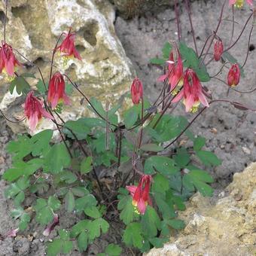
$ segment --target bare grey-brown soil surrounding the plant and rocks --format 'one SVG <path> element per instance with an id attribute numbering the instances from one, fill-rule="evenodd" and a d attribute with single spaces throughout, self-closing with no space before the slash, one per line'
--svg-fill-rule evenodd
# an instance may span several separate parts
<path id="1" fill-rule="evenodd" d="M 191 11 L 193 14 L 194 31 L 197 38 L 197 46 L 199 49 L 203 46 L 203 41 L 212 33 L 218 22 L 219 11 L 222 0 L 205 2 L 193 2 Z M 218 34 L 227 47 L 231 35 L 231 12 L 226 8 L 224 18 L 227 21 L 221 26 L 221 32 Z M 245 7 L 241 11 L 235 12 L 237 21 L 233 38 L 237 38 L 242 29 L 242 24 L 248 17 L 248 8 Z M 196 17 L 196 18 L 195 18 Z M 181 6 L 181 38 L 188 45 L 193 47 L 193 39 L 191 37 L 189 20 L 185 14 L 184 6 Z M 133 62 L 137 75 L 143 81 L 145 86 L 145 94 L 153 102 L 157 98 L 161 89 L 161 84 L 157 83 L 157 78 L 162 71 L 156 66 L 149 63 L 149 59 L 160 55 L 161 48 L 166 41 L 177 40 L 177 28 L 175 24 L 175 12 L 172 8 L 160 13 L 148 11 L 141 17 L 134 17 L 132 20 L 123 20 L 117 17 L 115 21 L 115 29 L 120 41 L 123 44 L 126 54 Z M 248 35 L 248 29 L 245 29 L 244 35 Z M 235 40 L 235 39 L 233 39 Z M 256 37 L 251 37 L 251 49 L 256 44 Z M 242 36 L 236 47 L 230 51 L 239 62 L 243 63 L 246 56 L 246 47 L 248 45 L 248 36 Z M 248 61 L 245 66 L 245 78 L 242 78 L 239 90 L 250 90 L 255 87 L 254 70 L 256 62 L 254 62 L 256 50 L 248 53 Z M 221 63 L 215 62 L 209 65 L 209 74 L 214 75 L 218 72 Z M 220 76 L 224 80 L 227 70 L 224 69 Z M 212 91 L 214 99 L 226 97 L 227 87 L 218 81 L 211 81 L 204 84 Z M 239 94 L 234 91 L 229 93 L 230 99 L 243 102 L 256 108 L 255 96 L 252 94 Z M 184 107 L 180 105 L 175 110 L 175 114 L 184 114 Z M 187 114 L 188 119 L 192 115 Z M 241 172 L 245 166 L 256 160 L 256 114 L 252 111 L 239 111 L 231 105 L 218 103 L 211 105 L 202 116 L 200 116 L 191 130 L 207 139 L 207 149 L 214 151 L 215 154 L 223 161 L 221 166 L 215 169 L 209 169 L 215 177 L 215 187 L 223 189 L 230 183 L 234 172 Z M 8 141 L 14 139 L 13 133 L 6 126 L 5 120 L 0 119 L 0 175 L 11 166 L 11 158 L 6 153 L 5 147 Z M 15 239 L 6 238 L 6 233 L 16 227 L 15 221 L 11 219 L 10 212 L 12 209 L 11 202 L 5 199 L 3 190 L 5 189 L 5 181 L 0 180 L 0 256 L 8 255 L 44 255 L 45 238 L 41 235 L 42 227 L 37 224 L 30 224 L 30 229 L 26 236 L 17 236 Z M 73 216 L 73 215 L 72 215 Z M 64 227 L 69 227 L 75 223 L 75 218 L 71 216 L 61 217 L 60 220 Z M 56 231 L 51 233 L 50 238 L 56 236 Z M 104 242 L 109 238 L 99 241 L 94 252 L 100 252 L 99 248 L 105 247 Z M 111 241 L 113 242 L 113 241 Z M 93 252 L 92 252 L 93 253 Z M 129 253 L 128 253 L 129 254 Z M 72 255 L 81 255 L 77 251 Z"/>

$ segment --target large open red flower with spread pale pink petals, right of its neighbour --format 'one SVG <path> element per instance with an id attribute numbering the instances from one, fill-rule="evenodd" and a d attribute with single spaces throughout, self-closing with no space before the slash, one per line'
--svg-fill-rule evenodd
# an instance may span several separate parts
<path id="1" fill-rule="evenodd" d="M 202 84 L 193 69 L 187 69 L 184 73 L 183 88 L 178 95 L 172 99 L 172 102 L 178 102 L 182 98 L 184 98 L 186 112 L 196 112 L 200 102 L 206 107 L 209 107 L 206 96 L 203 94 Z"/>

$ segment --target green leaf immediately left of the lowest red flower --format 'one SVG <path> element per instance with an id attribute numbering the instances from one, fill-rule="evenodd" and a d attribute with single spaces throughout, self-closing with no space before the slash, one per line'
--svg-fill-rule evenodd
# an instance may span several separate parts
<path id="1" fill-rule="evenodd" d="M 126 225 L 136 218 L 136 212 L 132 202 L 132 197 L 124 196 L 121 198 L 117 206 L 117 209 L 121 210 L 120 220 L 122 220 Z"/>

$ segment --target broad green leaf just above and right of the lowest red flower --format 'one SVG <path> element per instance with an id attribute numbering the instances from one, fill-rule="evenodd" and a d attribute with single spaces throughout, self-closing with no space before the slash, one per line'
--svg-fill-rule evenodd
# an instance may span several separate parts
<path id="1" fill-rule="evenodd" d="M 154 169 L 167 177 L 174 175 L 179 170 L 172 159 L 160 156 L 149 157 L 145 161 L 145 174 L 154 174 Z"/>

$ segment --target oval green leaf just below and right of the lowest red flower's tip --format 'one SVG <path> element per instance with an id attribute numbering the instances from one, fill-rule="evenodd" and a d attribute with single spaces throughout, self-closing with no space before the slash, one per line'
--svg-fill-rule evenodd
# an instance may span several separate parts
<path id="1" fill-rule="evenodd" d="M 142 230 L 149 237 L 157 236 L 157 230 L 160 230 L 160 218 L 151 206 L 147 206 L 145 214 L 142 215 Z"/>

